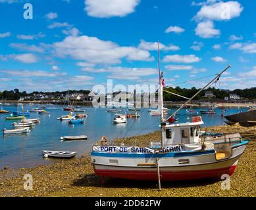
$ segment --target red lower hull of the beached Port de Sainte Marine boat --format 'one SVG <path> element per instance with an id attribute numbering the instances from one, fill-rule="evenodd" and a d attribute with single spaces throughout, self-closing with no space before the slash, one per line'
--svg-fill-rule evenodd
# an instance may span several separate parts
<path id="1" fill-rule="evenodd" d="M 213 169 L 205 171 L 160 171 L 161 180 L 192 180 L 192 179 L 220 179 L 223 174 L 232 175 L 236 165 L 225 169 Z M 157 170 L 149 171 L 117 171 L 117 170 L 95 170 L 95 174 L 103 177 L 133 180 L 157 180 Z"/>

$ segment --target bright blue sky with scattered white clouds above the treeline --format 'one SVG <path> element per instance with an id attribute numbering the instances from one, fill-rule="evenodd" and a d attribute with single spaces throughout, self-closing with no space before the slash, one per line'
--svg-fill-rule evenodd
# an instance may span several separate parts
<path id="1" fill-rule="evenodd" d="M 255 8 L 247 0 L 0 0 L 0 91 L 157 84 L 158 40 L 166 85 L 231 64 L 222 89 L 256 87 Z"/>

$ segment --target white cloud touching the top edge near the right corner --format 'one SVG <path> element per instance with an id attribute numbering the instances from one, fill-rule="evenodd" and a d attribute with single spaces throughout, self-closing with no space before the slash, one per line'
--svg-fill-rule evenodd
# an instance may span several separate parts
<path id="1" fill-rule="evenodd" d="M 230 20 L 240 16 L 243 7 L 238 1 L 208 1 L 194 17 L 196 20 Z"/>

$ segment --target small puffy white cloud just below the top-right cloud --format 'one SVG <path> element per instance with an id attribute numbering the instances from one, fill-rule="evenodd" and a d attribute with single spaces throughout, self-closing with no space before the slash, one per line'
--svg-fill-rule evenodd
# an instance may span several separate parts
<path id="1" fill-rule="evenodd" d="M 197 24 L 195 35 L 205 39 L 212 38 L 220 35 L 220 30 L 214 28 L 214 24 L 211 20 L 206 20 Z"/>

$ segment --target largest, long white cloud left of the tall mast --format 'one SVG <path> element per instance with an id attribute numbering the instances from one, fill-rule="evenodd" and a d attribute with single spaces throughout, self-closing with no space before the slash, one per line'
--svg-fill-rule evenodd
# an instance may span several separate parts
<path id="1" fill-rule="evenodd" d="M 82 35 L 68 36 L 63 41 L 53 43 L 57 56 L 70 56 L 91 64 L 117 64 L 122 58 L 127 60 L 152 61 L 148 51 L 136 47 L 120 47 L 112 41 L 103 41 L 97 37 Z"/>

